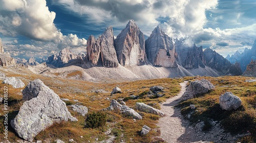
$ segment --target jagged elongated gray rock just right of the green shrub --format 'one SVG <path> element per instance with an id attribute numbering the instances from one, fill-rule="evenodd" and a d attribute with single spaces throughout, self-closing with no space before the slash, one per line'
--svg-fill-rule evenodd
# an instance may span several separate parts
<path id="1" fill-rule="evenodd" d="M 119 111 L 122 114 L 126 115 L 126 116 L 132 116 L 133 118 L 137 119 L 137 120 L 141 120 L 142 116 L 137 113 L 136 111 L 134 111 L 133 109 L 131 109 L 130 107 L 126 106 L 126 105 L 121 105 L 119 104 L 116 100 L 112 100 L 110 107 L 106 108 L 107 110 L 115 110 L 115 111 Z"/>

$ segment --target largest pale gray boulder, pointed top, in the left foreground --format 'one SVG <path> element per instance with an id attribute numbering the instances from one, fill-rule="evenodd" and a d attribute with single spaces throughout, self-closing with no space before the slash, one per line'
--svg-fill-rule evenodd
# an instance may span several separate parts
<path id="1" fill-rule="evenodd" d="M 68 111 L 65 102 L 39 79 L 25 87 L 23 99 L 25 102 L 11 121 L 11 126 L 25 140 L 32 141 L 39 132 L 53 123 L 77 121 Z"/>

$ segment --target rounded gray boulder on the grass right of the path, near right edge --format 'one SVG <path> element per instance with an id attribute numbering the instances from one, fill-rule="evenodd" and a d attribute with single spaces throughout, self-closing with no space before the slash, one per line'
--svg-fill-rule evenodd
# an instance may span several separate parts
<path id="1" fill-rule="evenodd" d="M 231 92 L 226 92 L 221 95 L 219 101 L 222 110 L 236 110 L 242 104 L 241 99 L 234 96 Z"/>

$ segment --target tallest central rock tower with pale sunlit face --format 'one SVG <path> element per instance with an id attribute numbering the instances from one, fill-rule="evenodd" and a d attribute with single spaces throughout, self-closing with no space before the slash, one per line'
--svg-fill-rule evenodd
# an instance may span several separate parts
<path id="1" fill-rule="evenodd" d="M 146 62 L 144 35 L 134 20 L 115 39 L 117 59 L 122 66 L 143 65 Z"/>

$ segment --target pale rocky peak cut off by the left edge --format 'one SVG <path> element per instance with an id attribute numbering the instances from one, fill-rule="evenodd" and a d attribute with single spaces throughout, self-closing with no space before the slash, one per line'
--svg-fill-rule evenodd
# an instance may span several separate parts
<path id="1" fill-rule="evenodd" d="M 15 66 L 16 62 L 10 53 L 4 52 L 4 46 L 0 38 L 0 66 Z"/>

